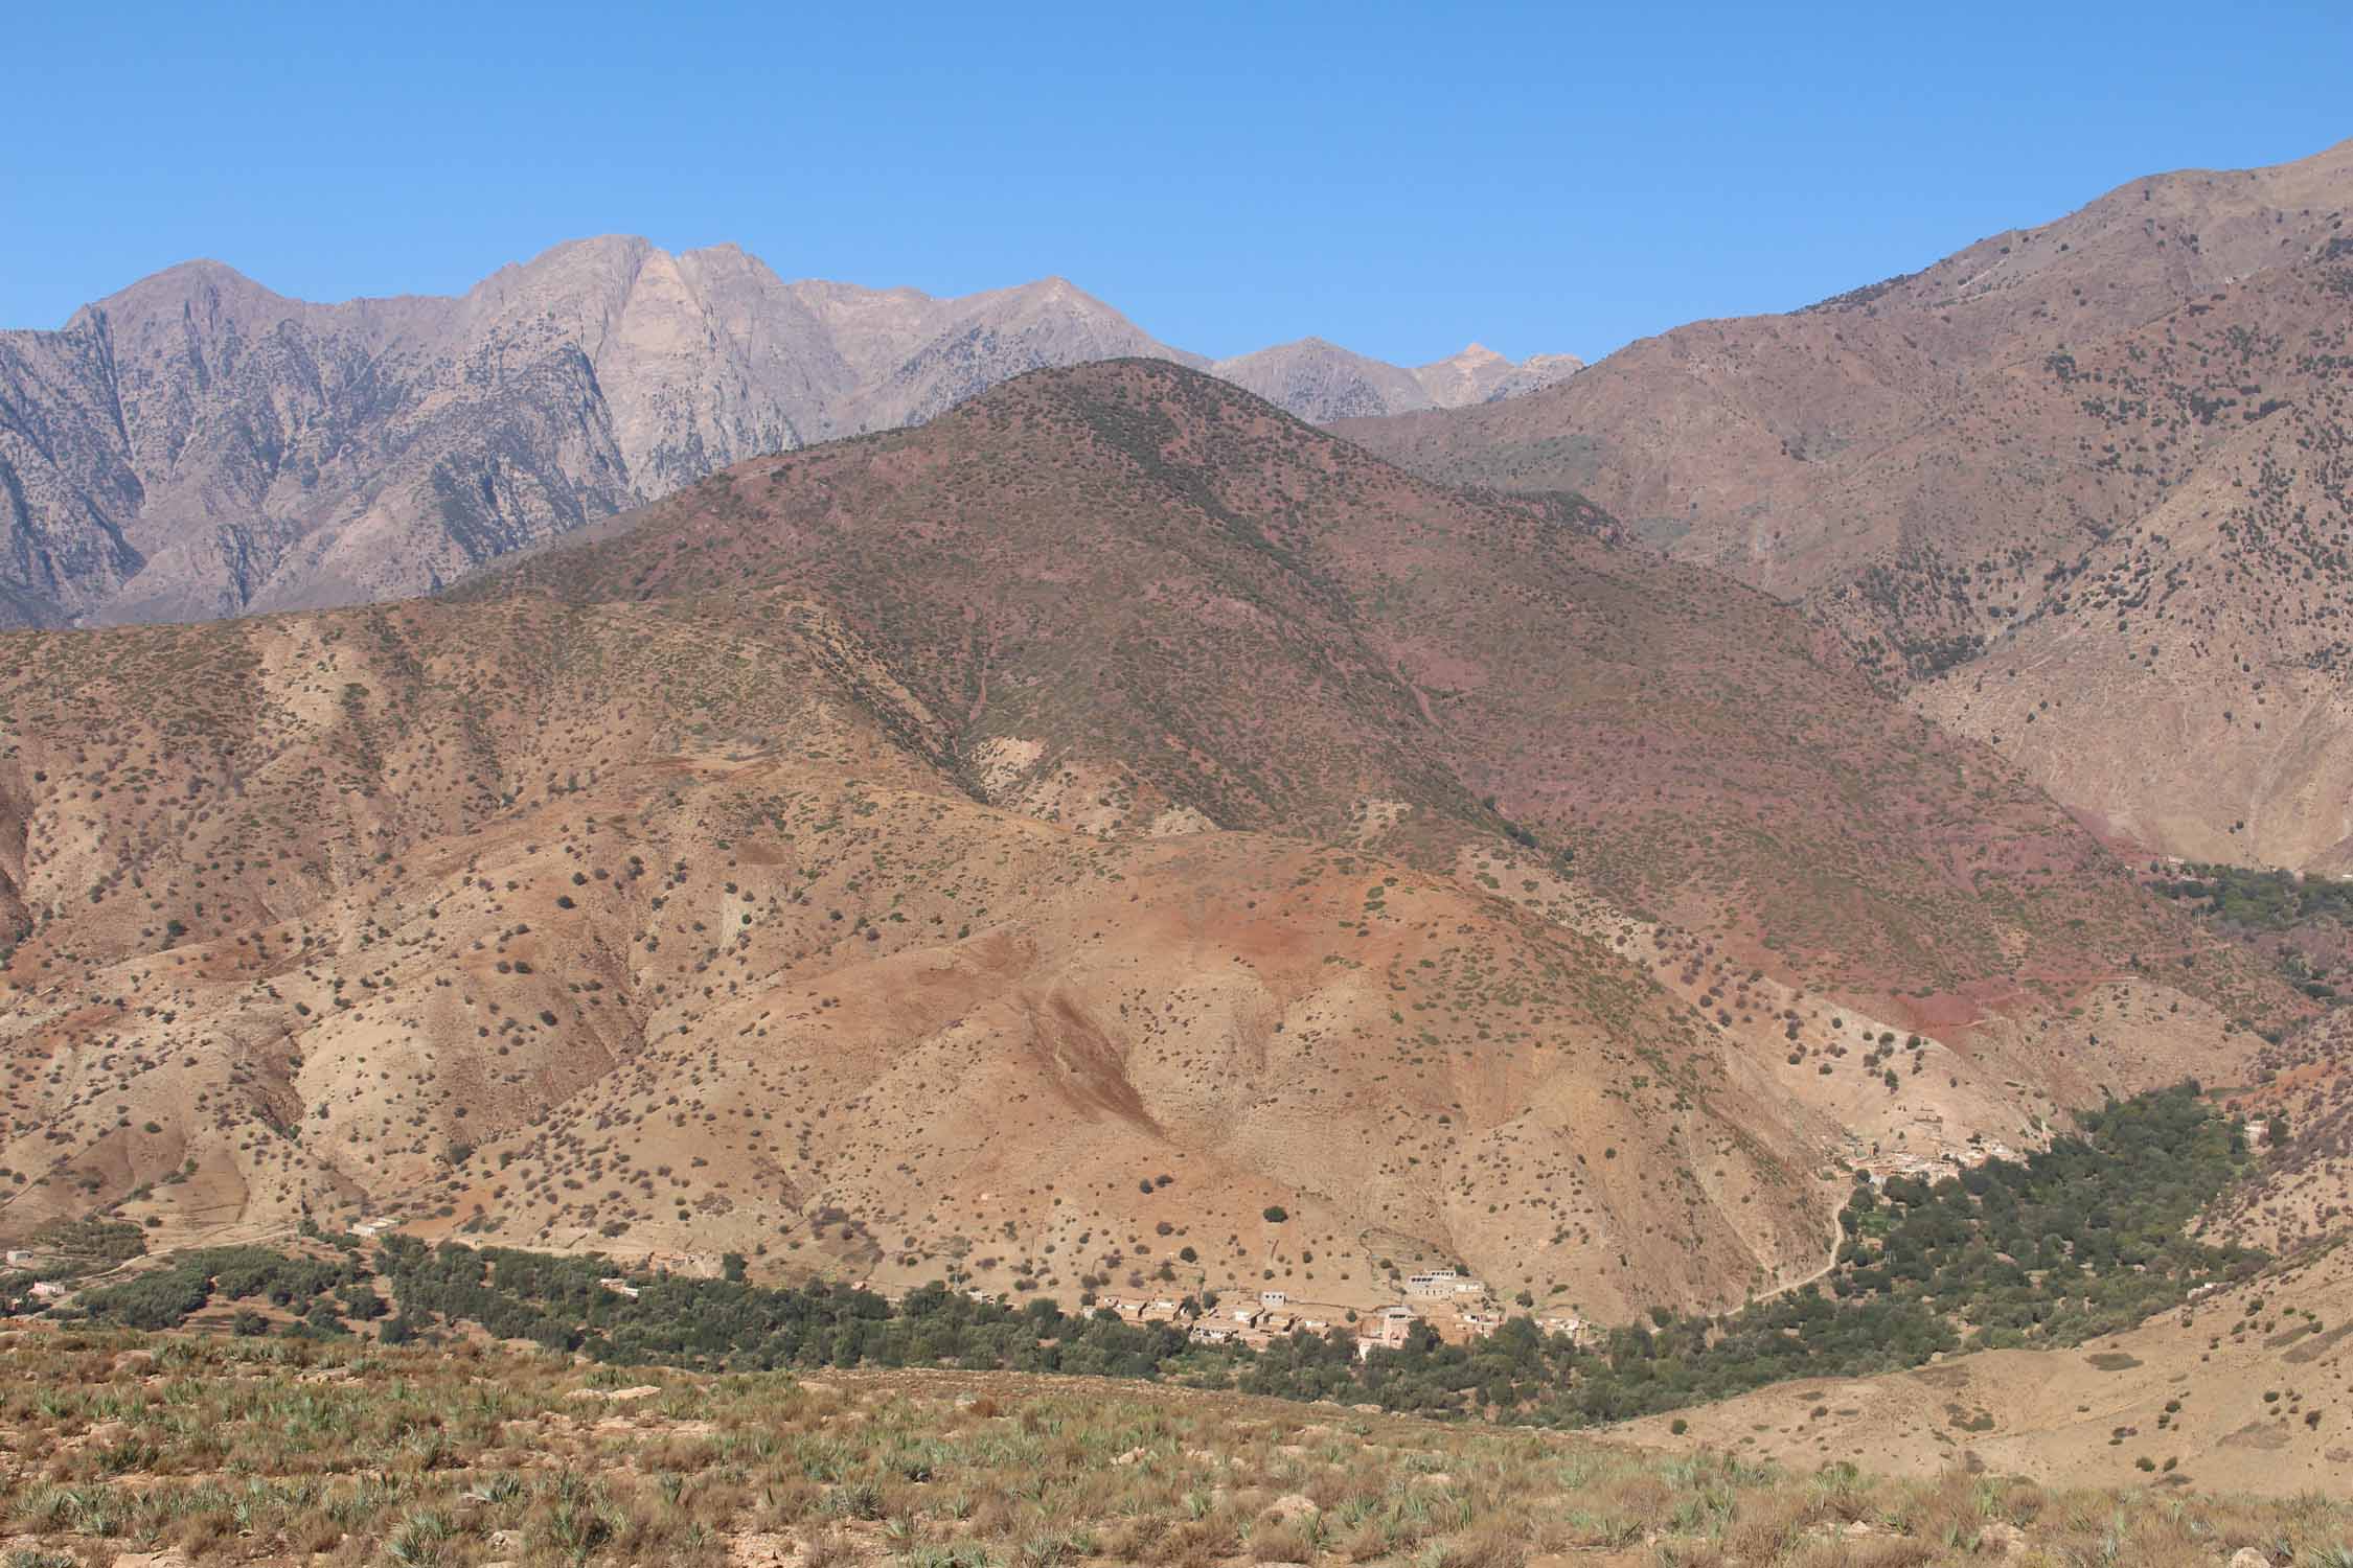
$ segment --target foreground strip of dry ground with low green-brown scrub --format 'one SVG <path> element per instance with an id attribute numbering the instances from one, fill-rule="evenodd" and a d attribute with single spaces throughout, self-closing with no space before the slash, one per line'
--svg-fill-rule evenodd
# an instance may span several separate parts
<path id="1" fill-rule="evenodd" d="M 68 1331 L 9 1335 L 0 1375 L 9 1568 L 2353 1561 L 2322 1497 L 1793 1474 L 1134 1382 Z"/>

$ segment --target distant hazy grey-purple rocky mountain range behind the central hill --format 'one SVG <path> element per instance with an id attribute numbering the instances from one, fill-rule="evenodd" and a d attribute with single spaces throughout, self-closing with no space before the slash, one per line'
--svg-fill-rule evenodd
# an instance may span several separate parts
<path id="1" fill-rule="evenodd" d="M 1049 364 L 1153 355 L 1054 277 L 932 299 L 784 282 L 720 244 L 560 244 L 459 299 L 282 299 L 198 261 L 0 331 L 0 625 L 188 621 L 431 592 L 748 456 L 920 423 Z M 1311 418 L 1567 376 L 1478 346 L 1219 364 Z"/>

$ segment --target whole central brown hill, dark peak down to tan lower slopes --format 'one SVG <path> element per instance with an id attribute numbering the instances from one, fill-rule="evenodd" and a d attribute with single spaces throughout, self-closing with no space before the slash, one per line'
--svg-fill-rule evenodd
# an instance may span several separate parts
<path id="1" fill-rule="evenodd" d="M 0 1229 L 1617 1316 L 1817 1267 L 1840 1154 L 2299 1016 L 1595 527 L 1113 362 L 459 599 L 19 635 Z"/>

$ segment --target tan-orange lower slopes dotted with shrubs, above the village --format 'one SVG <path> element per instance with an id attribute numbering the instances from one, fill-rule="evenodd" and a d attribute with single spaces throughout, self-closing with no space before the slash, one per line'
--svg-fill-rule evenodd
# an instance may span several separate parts
<path id="1" fill-rule="evenodd" d="M 1464 1258 L 1614 1312 L 1817 1246 L 1800 1110 L 1725 1095 L 1588 938 L 1299 839 L 974 804 L 854 642 L 767 609 L 35 644 L 82 724 L 14 759 L 64 788 L 26 820 L 0 1222 L 391 1211 L 1064 1293 L 1191 1246 L 1188 1288 L 1355 1305 L 1374 1260 Z M 153 705 L 89 724 L 89 656 Z"/>

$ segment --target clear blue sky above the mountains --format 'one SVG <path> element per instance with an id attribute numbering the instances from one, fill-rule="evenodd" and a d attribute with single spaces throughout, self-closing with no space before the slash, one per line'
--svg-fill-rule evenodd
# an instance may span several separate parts
<path id="1" fill-rule="evenodd" d="M 214 256 L 459 292 L 591 233 L 1169 343 L 1600 355 L 2353 136 L 2353 7 L 38 5 L 0 324 Z"/>

